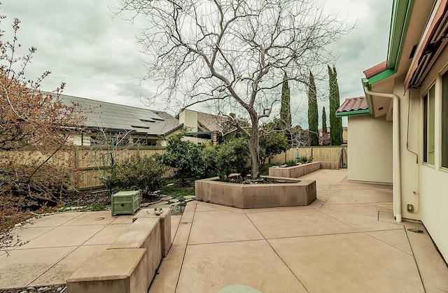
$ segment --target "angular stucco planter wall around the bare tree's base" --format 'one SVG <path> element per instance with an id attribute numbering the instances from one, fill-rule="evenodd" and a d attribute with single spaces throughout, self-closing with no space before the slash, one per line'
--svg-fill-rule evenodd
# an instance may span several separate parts
<path id="1" fill-rule="evenodd" d="M 316 199 L 316 180 L 276 179 L 294 183 L 238 184 L 221 182 L 218 177 L 207 178 L 196 180 L 196 199 L 235 208 L 308 206 Z"/>

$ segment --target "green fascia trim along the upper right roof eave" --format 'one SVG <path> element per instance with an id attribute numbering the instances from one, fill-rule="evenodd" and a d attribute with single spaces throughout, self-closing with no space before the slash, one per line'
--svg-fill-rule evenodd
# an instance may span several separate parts
<path id="1" fill-rule="evenodd" d="M 414 0 L 394 0 L 392 6 L 391 31 L 387 52 L 387 67 L 396 72 L 405 43 Z"/>

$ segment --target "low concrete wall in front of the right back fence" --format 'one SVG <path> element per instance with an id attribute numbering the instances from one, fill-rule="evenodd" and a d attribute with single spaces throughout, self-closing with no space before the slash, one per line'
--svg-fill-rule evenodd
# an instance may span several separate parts
<path id="1" fill-rule="evenodd" d="M 299 178 L 319 169 L 337 170 L 339 169 L 339 164 L 337 162 L 312 162 L 283 168 L 271 167 L 269 168 L 269 176 Z"/>

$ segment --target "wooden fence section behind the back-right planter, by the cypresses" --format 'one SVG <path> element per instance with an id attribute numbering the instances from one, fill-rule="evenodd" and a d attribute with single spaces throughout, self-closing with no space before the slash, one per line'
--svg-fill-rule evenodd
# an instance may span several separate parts
<path id="1" fill-rule="evenodd" d="M 297 148 L 290 148 L 270 159 L 271 164 L 295 160 Z M 348 148 L 346 145 L 300 147 L 300 157 L 313 157 L 314 162 L 339 162 L 340 168 L 346 168 Z"/>

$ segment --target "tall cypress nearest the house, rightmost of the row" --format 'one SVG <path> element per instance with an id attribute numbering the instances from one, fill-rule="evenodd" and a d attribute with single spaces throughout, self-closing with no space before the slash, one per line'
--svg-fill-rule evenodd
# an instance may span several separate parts
<path id="1" fill-rule="evenodd" d="M 337 85 L 336 68 L 331 70 L 328 66 L 328 77 L 330 83 L 330 143 L 331 145 L 342 145 L 342 119 L 336 117 L 339 108 L 339 85 Z"/>

